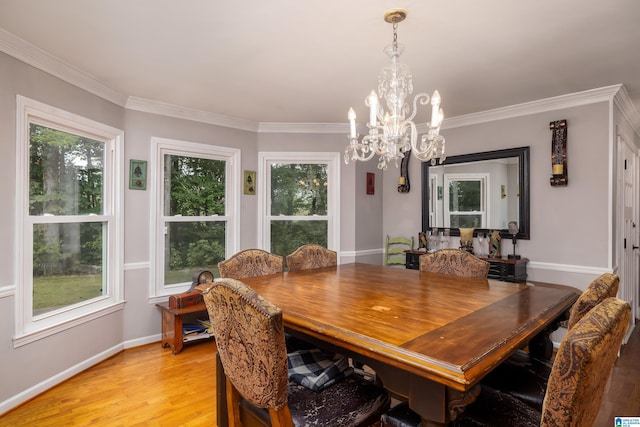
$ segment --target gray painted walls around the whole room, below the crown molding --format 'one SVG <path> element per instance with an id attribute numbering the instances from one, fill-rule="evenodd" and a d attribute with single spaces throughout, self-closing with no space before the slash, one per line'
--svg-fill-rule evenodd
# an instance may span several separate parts
<path id="1" fill-rule="evenodd" d="M 5 160 L 0 168 L 0 200 L 5 207 L 0 210 L 0 413 L 126 346 L 157 341 L 160 333 L 160 315 L 148 297 L 150 192 L 125 190 L 124 309 L 13 348 L 12 289 L 19 286 L 13 244 L 17 94 L 124 129 L 126 164 L 131 158 L 150 160 L 152 136 L 239 148 L 242 169 L 250 170 L 258 169 L 259 151 L 342 152 L 346 144 L 343 134 L 255 133 L 129 111 L 0 53 L 0 157 Z M 548 124 L 558 119 L 569 122 L 566 188 L 549 185 Z M 633 127 L 607 102 L 443 131 L 449 155 L 531 146 L 532 238 L 520 242 L 519 252 L 531 259 L 532 279 L 577 287 L 586 286 L 596 272 L 617 266 L 616 252 L 608 255 L 609 242 L 615 244 L 615 222 L 609 226 L 609 215 L 610 200 L 615 205 L 611 177 L 616 168 L 610 141 L 616 132 L 640 145 Z M 367 172 L 376 175 L 374 195 L 365 194 Z M 397 192 L 398 175 L 393 166 L 379 171 L 375 161 L 341 164 L 341 262 L 381 263 L 386 234 L 417 236 L 419 163 L 410 163 L 410 193 Z M 257 205 L 256 196 L 242 196 L 241 248 L 256 245 Z"/>

